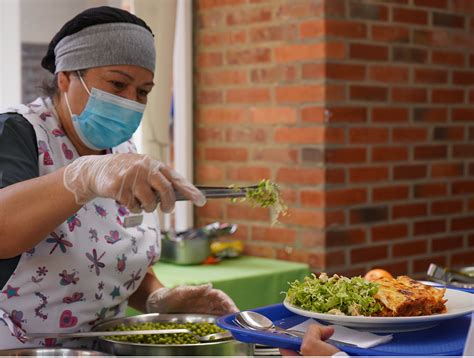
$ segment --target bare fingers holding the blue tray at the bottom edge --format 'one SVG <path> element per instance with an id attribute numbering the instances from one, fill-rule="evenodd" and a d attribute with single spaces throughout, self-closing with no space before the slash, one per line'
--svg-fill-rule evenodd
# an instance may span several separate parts
<path id="1" fill-rule="evenodd" d="M 331 337 L 333 333 L 333 327 L 312 324 L 304 335 L 300 350 L 301 354 L 303 356 L 332 356 L 333 354 L 340 352 L 339 349 L 325 342 L 325 340 Z M 280 353 L 282 356 L 299 355 L 298 353 L 288 349 L 280 349 Z"/>

